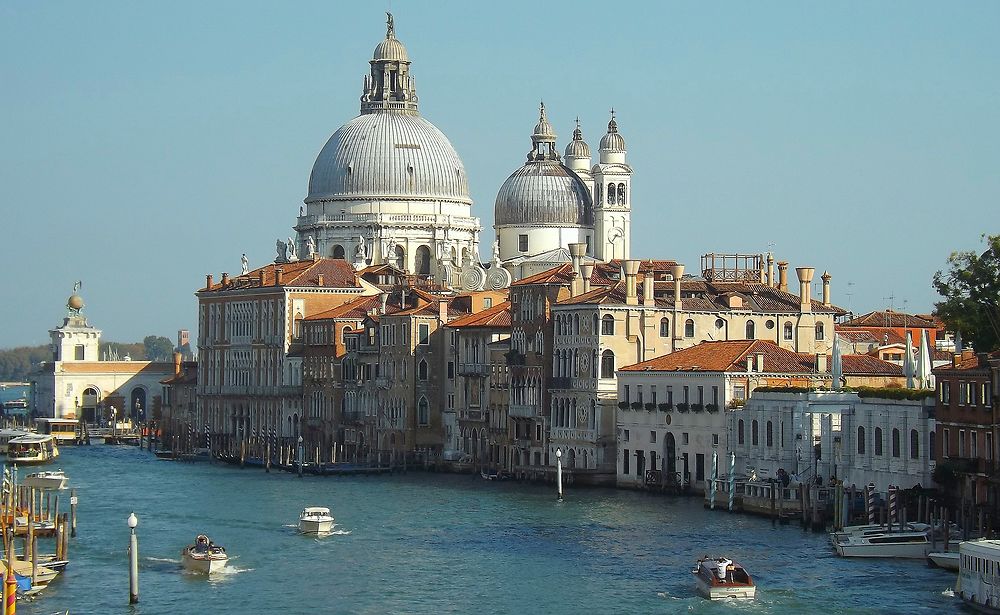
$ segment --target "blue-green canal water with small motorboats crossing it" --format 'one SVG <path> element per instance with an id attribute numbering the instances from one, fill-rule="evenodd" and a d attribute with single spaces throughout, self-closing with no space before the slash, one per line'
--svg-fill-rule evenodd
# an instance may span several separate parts
<path id="1" fill-rule="evenodd" d="M 22 615 L 62 613 L 939 613 L 955 576 L 917 561 L 836 557 L 825 535 L 701 501 L 410 472 L 310 477 L 161 461 L 134 447 L 64 448 L 77 488 L 70 566 Z M 21 474 L 23 475 L 23 471 Z M 65 510 L 68 498 L 61 498 Z M 336 533 L 296 533 L 303 506 Z M 129 512 L 140 602 L 128 606 Z M 181 570 L 207 533 L 224 574 Z M 691 567 L 726 554 L 756 577 L 750 603 L 709 603 Z"/>

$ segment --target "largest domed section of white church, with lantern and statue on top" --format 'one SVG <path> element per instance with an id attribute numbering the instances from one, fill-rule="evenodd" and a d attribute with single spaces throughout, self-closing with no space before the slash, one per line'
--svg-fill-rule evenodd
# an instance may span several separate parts
<path id="1" fill-rule="evenodd" d="M 479 290 L 486 283 L 481 226 L 465 167 L 448 138 L 420 115 L 410 58 L 391 15 L 369 64 L 361 114 L 317 156 L 295 249 L 279 242 L 278 259 L 316 251 L 358 268 L 390 263 Z"/>

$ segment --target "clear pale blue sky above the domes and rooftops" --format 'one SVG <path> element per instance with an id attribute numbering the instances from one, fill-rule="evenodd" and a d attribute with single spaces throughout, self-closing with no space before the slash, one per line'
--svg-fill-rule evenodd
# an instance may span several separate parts
<path id="1" fill-rule="evenodd" d="M 632 256 L 773 251 L 856 313 L 926 313 L 996 234 L 998 2 L 0 3 L 0 348 L 73 283 L 104 339 L 197 329 L 205 274 L 274 256 L 395 16 L 421 114 L 493 204 L 545 101 L 634 169 Z M 794 276 L 792 292 L 796 291 Z"/>

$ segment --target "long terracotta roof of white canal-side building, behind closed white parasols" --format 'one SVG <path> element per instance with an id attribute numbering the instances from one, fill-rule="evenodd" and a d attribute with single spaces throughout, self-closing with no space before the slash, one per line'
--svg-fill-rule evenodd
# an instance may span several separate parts
<path id="1" fill-rule="evenodd" d="M 765 373 L 812 373 L 811 355 L 785 350 L 768 340 L 702 342 L 648 361 L 622 367 L 621 371 L 745 372 L 748 355 L 764 355 Z"/>

